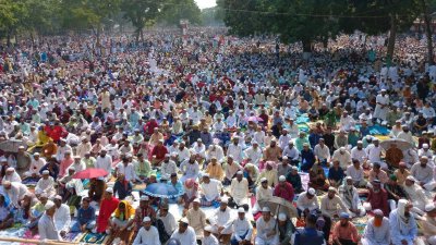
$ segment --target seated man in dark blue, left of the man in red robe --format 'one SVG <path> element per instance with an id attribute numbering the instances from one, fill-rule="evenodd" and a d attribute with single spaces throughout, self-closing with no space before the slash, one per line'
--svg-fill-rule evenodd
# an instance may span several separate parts
<path id="1" fill-rule="evenodd" d="M 93 206 L 89 206 L 90 198 L 82 199 L 82 207 L 77 210 L 77 221 L 71 228 L 72 232 L 92 231 L 96 225 L 96 215 Z"/>

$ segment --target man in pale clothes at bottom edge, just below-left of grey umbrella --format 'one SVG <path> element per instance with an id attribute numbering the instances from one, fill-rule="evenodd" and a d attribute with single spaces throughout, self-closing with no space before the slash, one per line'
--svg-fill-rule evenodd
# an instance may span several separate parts
<path id="1" fill-rule="evenodd" d="M 268 207 L 262 209 L 262 217 L 256 221 L 256 245 L 279 245 L 277 221 Z"/>

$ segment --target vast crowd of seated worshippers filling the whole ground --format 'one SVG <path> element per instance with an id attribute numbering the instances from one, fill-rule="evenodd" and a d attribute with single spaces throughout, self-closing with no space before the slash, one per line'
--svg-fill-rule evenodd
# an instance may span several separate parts
<path id="1" fill-rule="evenodd" d="M 436 244 L 425 41 L 400 37 L 388 61 L 385 37 L 362 34 L 308 58 L 219 28 L 145 37 L 0 47 L 1 230 L 133 233 L 135 245 Z M 107 175 L 73 177 L 88 169 Z M 135 188 L 159 183 L 180 195 Z M 265 205 L 274 198 L 295 217 Z"/>

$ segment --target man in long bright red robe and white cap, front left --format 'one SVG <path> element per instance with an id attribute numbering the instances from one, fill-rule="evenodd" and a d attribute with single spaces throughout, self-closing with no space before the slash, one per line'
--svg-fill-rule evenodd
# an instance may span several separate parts
<path id="1" fill-rule="evenodd" d="M 118 208 L 120 200 L 113 196 L 113 188 L 108 187 L 105 192 L 105 197 L 100 204 L 100 211 L 98 212 L 97 218 L 97 232 L 98 233 L 109 233 L 108 224 L 109 218 L 112 216 L 112 212 Z"/>

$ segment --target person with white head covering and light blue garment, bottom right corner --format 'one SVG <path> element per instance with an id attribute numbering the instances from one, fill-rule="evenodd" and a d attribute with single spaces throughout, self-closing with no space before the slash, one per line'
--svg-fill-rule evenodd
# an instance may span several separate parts
<path id="1" fill-rule="evenodd" d="M 393 245 L 413 245 L 417 235 L 416 221 L 411 213 L 412 204 L 398 201 L 398 208 L 389 215 L 390 237 Z"/>

